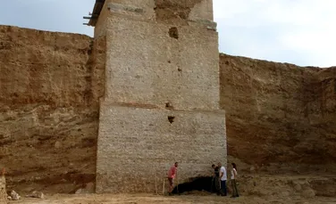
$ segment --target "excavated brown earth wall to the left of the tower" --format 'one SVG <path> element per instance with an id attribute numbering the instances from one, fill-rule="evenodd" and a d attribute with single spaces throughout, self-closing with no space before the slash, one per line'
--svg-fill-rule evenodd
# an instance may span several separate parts
<path id="1" fill-rule="evenodd" d="M 8 189 L 71 192 L 94 182 L 104 45 L 0 26 L 0 167 Z"/>

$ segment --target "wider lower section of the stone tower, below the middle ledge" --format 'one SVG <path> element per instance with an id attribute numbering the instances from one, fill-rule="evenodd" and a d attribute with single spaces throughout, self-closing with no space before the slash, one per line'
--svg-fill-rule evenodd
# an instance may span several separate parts
<path id="1" fill-rule="evenodd" d="M 174 117 L 171 123 L 168 117 Z M 97 147 L 97 192 L 162 192 L 175 161 L 179 182 L 211 175 L 226 162 L 223 110 L 164 110 L 102 104 Z M 165 181 L 167 182 L 167 181 Z"/>

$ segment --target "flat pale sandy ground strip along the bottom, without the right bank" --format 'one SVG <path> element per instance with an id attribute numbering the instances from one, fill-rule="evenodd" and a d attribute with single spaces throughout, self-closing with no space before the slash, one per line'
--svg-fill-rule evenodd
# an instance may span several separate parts
<path id="1" fill-rule="evenodd" d="M 86 194 L 86 195 L 49 195 L 44 200 L 38 199 L 23 199 L 19 201 L 11 201 L 10 203 L 25 203 L 25 204 L 46 204 L 46 203 L 71 203 L 71 204 L 152 204 L 152 203 L 293 203 L 293 204 L 308 204 L 308 203 L 330 203 L 335 204 L 336 198 L 314 197 L 314 198 L 300 198 L 300 197 L 255 197 L 255 196 L 241 196 L 236 199 L 230 197 L 219 197 L 216 195 L 181 195 L 181 196 L 155 196 L 150 194 Z"/>

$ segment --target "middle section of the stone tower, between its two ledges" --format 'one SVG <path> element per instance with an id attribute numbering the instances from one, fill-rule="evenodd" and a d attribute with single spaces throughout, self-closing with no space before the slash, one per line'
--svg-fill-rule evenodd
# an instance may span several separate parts
<path id="1" fill-rule="evenodd" d="M 111 17 L 107 30 L 105 98 L 175 109 L 219 109 L 218 37 L 178 27 Z M 197 100 L 194 100 L 196 99 Z"/>

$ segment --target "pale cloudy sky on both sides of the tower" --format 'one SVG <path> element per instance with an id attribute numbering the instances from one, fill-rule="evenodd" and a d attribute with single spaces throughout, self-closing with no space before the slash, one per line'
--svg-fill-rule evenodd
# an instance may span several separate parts
<path id="1" fill-rule="evenodd" d="M 9 0 L 0 24 L 82 33 L 95 0 Z M 301 66 L 336 65 L 336 0 L 214 0 L 220 51 Z M 1 39 L 0 39 L 1 40 Z"/>

